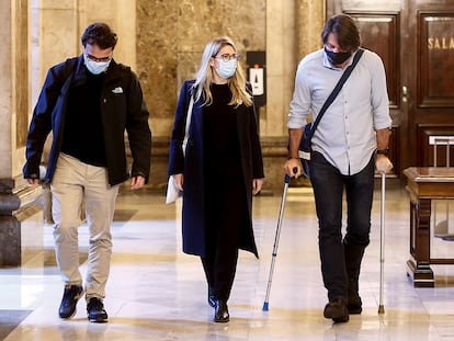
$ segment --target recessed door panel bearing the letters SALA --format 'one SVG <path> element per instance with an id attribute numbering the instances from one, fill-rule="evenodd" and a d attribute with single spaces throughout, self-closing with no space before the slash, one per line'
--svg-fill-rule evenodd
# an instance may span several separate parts
<path id="1" fill-rule="evenodd" d="M 418 14 L 418 105 L 454 106 L 454 12 Z"/>

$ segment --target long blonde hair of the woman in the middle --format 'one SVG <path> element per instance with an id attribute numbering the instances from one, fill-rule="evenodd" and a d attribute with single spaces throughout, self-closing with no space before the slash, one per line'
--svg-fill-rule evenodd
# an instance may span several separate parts
<path id="1" fill-rule="evenodd" d="M 205 101 L 203 102 L 203 105 L 209 105 L 213 102 L 213 95 L 212 91 L 209 90 L 209 86 L 213 82 L 214 70 L 209 61 L 226 45 L 230 45 L 234 50 L 237 52 L 234 42 L 227 36 L 211 41 L 208 44 L 206 44 L 203 52 L 201 65 L 194 83 L 195 101 L 198 101 L 204 95 Z M 231 91 L 231 101 L 228 103 L 229 105 L 238 106 L 242 103 L 245 103 L 247 106 L 252 105 L 252 96 L 246 91 L 245 73 L 239 64 L 237 65 L 237 69 L 234 76 L 228 79 L 228 86 Z"/>

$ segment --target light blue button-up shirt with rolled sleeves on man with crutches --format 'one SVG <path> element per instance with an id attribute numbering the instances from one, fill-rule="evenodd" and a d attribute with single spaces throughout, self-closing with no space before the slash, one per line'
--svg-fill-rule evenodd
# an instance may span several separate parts
<path id="1" fill-rule="evenodd" d="M 309 111 L 316 120 L 343 70 L 329 62 L 324 49 L 303 58 L 296 71 L 288 128 L 304 127 Z M 375 53 L 364 50 L 321 117 L 311 139 L 313 150 L 321 152 L 342 174 L 360 172 L 377 147 L 375 130 L 391 125 L 388 102 L 383 61 Z"/>

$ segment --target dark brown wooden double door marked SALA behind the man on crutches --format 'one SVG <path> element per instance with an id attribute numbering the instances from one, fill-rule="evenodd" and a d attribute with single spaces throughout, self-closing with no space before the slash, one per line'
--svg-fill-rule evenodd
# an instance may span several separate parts
<path id="1" fill-rule="evenodd" d="M 328 18 L 341 12 L 356 20 L 362 45 L 385 64 L 395 174 L 432 166 L 436 136 L 454 145 L 454 0 L 327 0 Z M 439 166 L 446 163 L 441 145 Z"/>

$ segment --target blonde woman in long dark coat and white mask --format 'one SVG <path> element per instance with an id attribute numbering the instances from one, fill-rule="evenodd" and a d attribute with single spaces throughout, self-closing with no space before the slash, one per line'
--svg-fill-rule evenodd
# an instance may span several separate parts
<path id="1" fill-rule="evenodd" d="M 181 88 L 169 152 L 169 174 L 183 191 L 183 252 L 201 257 L 215 322 L 229 321 L 238 250 L 258 258 L 252 195 L 262 186 L 263 161 L 251 89 L 238 60 L 228 37 L 206 45 L 196 79 Z"/>

